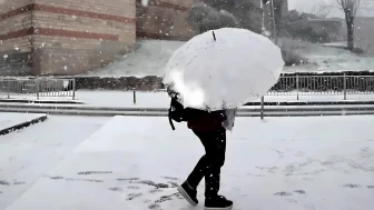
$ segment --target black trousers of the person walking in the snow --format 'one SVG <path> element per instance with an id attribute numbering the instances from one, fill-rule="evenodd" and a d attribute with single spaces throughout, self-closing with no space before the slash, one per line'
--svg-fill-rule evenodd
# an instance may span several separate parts
<path id="1" fill-rule="evenodd" d="M 225 163 L 226 130 L 194 133 L 200 139 L 205 154 L 187 178 L 188 183 L 197 188 L 205 177 L 205 198 L 216 197 L 219 191 L 220 168 Z"/>

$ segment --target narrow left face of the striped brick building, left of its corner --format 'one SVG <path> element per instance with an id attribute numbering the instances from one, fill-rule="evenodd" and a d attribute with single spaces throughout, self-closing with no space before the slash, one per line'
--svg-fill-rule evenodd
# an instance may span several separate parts
<path id="1" fill-rule="evenodd" d="M 31 70 L 31 11 L 24 8 L 30 3 L 31 0 L 0 3 L 0 76 L 28 74 Z"/>

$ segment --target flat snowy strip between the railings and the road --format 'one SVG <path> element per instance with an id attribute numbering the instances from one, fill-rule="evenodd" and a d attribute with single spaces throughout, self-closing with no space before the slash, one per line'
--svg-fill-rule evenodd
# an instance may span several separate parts
<path id="1" fill-rule="evenodd" d="M 62 106 L 85 106 L 85 107 L 108 107 L 108 108 L 168 108 L 170 104 L 170 98 L 166 92 L 134 92 L 132 91 L 83 91 L 79 90 L 76 92 L 76 100 L 71 98 L 59 98 L 59 97 L 49 97 L 40 98 L 37 100 L 36 97 L 12 97 L 7 102 L 4 97 L 0 96 L 0 99 L 4 99 L 2 104 L 14 104 L 14 101 L 24 100 L 24 101 L 37 101 L 39 103 L 43 101 L 52 102 L 65 102 L 71 104 Z M 265 102 L 321 102 L 321 101 L 374 101 L 374 94 L 347 94 L 347 100 L 344 100 L 344 96 L 297 96 L 284 94 L 284 96 L 266 96 Z M 256 100 L 255 102 L 259 102 Z M 77 103 L 77 104 L 72 104 Z M 80 104 L 83 103 L 83 104 Z M 28 103 L 36 104 L 36 103 Z"/>

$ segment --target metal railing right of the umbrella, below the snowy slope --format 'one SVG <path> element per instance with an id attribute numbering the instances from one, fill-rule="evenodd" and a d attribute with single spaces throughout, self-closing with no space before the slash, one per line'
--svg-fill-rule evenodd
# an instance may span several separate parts
<path id="1" fill-rule="evenodd" d="M 284 76 L 267 96 L 373 94 L 373 76 Z"/>

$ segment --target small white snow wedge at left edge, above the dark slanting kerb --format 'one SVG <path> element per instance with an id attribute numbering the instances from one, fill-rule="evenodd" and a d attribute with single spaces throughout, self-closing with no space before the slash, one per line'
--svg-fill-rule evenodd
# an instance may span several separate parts
<path id="1" fill-rule="evenodd" d="M 0 130 L 9 129 L 23 122 L 30 122 L 46 114 L 0 112 Z"/>

